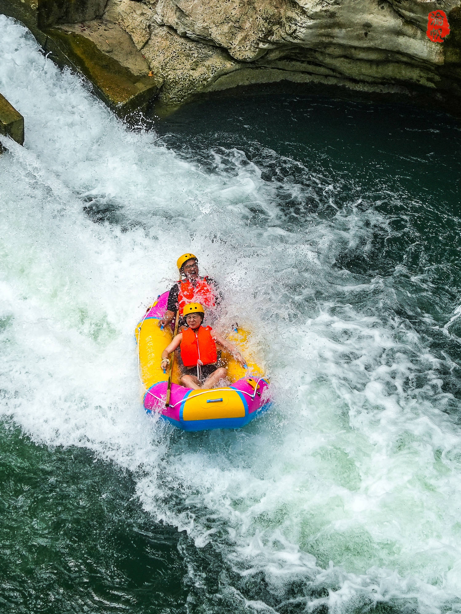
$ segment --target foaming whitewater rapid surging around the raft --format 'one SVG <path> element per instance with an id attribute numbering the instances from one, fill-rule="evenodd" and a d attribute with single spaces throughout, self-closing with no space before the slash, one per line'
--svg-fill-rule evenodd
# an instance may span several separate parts
<path id="1" fill-rule="evenodd" d="M 203 165 L 128 129 L 2 15 L 0 91 L 26 135 L 0 156 L 4 418 L 133 472 L 146 513 L 242 577 L 323 587 L 299 594 L 305 611 L 461 611 L 461 437 L 440 358 L 388 309 L 387 279 L 334 266 L 387 220 L 326 174 L 269 182 L 238 148 Z M 143 411 L 134 327 L 189 251 L 274 383 L 239 432 L 180 435 Z"/>

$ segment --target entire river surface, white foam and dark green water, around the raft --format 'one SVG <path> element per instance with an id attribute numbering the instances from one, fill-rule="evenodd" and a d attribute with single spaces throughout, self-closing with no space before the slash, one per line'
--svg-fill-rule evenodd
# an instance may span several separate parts
<path id="1" fill-rule="evenodd" d="M 459 123 L 273 93 L 130 131 L 1 16 L 0 58 L 0 610 L 458 612 Z M 184 247 L 267 354 L 242 432 L 141 406 Z"/>

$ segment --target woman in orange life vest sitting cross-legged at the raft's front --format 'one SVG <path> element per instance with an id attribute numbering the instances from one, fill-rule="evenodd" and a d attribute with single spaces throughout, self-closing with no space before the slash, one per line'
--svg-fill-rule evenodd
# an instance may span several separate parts
<path id="1" fill-rule="evenodd" d="M 218 351 L 225 349 L 233 354 L 235 360 L 245 365 L 242 354 L 229 341 L 223 339 L 209 326 L 202 326 L 205 309 L 199 303 L 189 303 L 184 307 L 183 317 L 187 328 L 176 335 L 170 345 L 162 352 L 160 367 L 166 369 L 170 364 L 169 354 L 179 348 L 184 372 L 181 384 L 187 388 L 213 388 L 227 375 L 227 369 L 218 366 Z"/>

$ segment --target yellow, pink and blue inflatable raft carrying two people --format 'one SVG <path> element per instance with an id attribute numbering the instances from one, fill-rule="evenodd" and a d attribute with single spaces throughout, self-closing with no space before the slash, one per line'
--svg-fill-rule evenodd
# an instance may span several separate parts
<path id="1" fill-rule="evenodd" d="M 159 327 L 167 311 L 168 292 L 160 295 L 136 326 L 140 378 L 144 385 L 144 408 L 148 414 L 159 413 L 179 429 L 238 429 L 256 418 L 270 405 L 269 382 L 256 363 L 248 361 L 245 370 L 229 354 L 221 355 L 227 366 L 230 386 L 211 390 L 192 390 L 179 385 L 178 361 L 175 360 L 170 406 L 165 406 L 168 371 L 160 368 L 160 356 L 173 338 L 170 326 Z M 248 333 L 238 328 L 229 341 L 249 358 L 246 351 Z"/>

